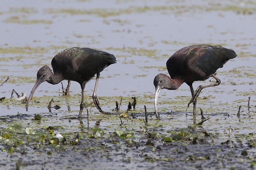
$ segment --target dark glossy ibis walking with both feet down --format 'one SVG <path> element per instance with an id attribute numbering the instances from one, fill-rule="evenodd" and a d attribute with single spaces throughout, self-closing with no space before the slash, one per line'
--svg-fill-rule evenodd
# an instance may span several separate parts
<path id="1" fill-rule="evenodd" d="M 37 79 L 34 87 L 29 95 L 29 99 L 26 105 L 26 111 L 29 109 L 29 101 L 32 98 L 35 90 L 42 83 L 47 81 L 50 84 L 58 84 L 62 80 L 71 80 L 79 82 L 82 89 L 82 98 L 80 104 L 79 117 L 82 115 L 84 109 L 84 87 L 85 84 L 95 76 L 96 74 L 96 83 L 93 91 L 93 102 L 96 105 L 96 108 L 101 112 L 101 107 L 99 106 L 99 101 L 96 96 L 96 88 L 99 80 L 100 72 L 104 68 L 108 67 L 111 64 L 116 63 L 116 57 L 112 54 L 109 54 L 105 51 L 98 51 L 90 48 L 67 48 L 52 59 L 52 70 L 49 66 L 45 65 L 38 70 Z"/>

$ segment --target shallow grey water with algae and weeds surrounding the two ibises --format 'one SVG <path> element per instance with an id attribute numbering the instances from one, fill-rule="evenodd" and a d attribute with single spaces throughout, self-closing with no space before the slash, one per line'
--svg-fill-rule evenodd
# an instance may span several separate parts
<path id="1" fill-rule="evenodd" d="M 24 123 L 24 127 L 28 124 L 38 132 L 44 131 L 46 126 L 59 124 L 64 129 L 55 130 L 54 133 L 84 134 L 77 119 L 72 119 L 71 124 L 68 122 L 79 111 L 81 88 L 77 82 L 71 83 L 71 96 L 67 99 L 62 96 L 61 84 L 43 83 L 35 92 L 28 112 L 26 104 L 10 99 L 12 89 L 28 96 L 38 69 L 42 65 L 50 65 L 52 57 L 64 48 L 81 46 L 108 51 L 116 56 L 117 63 L 102 71 L 97 88 L 102 109 L 113 115 L 108 118 L 99 115 L 95 107 L 89 108 L 91 123 L 87 127 L 86 111 L 83 114 L 85 129 L 89 131 L 97 120 L 102 119 L 99 127 L 104 129 L 105 136 L 95 140 L 84 137 L 80 145 L 73 147 L 73 150 L 80 147 L 77 152 L 69 149 L 66 153 L 58 149 L 54 152 L 48 145 L 42 146 L 47 151 L 52 150 L 50 158 L 45 150 L 37 152 L 26 148 L 26 156 L 19 152 L 3 152 L 2 156 L 8 159 L 3 159 L 1 165 L 12 169 L 17 160 L 23 158 L 24 169 L 69 169 L 70 162 L 76 164 L 73 169 L 250 169 L 250 163 L 256 162 L 255 147 L 248 147 L 249 139 L 244 136 L 241 137 L 241 142 L 238 139 L 242 134 L 248 135 L 255 131 L 255 11 L 255 2 L 239 0 L 29 0 L 26 3 L 9 0 L 0 6 L 0 83 L 10 77 L 0 87 L 0 97 L 6 97 L 5 101 L 0 102 L 0 116 L 3 118 L 0 123 L 1 136 L 11 126 L 6 124 L 6 120 L 9 120 L 8 123 Z M 189 128 L 194 123 L 190 116 L 192 107 L 188 108 L 188 115 L 185 113 L 190 91 L 186 84 L 176 91 L 162 90 L 157 105 L 161 120 L 157 122 L 153 113 L 153 79 L 160 72 L 168 74 L 165 63 L 175 51 L 193 44 L 222 45 L 235 50 L 238 57 L 218 70 L 221 85 L 204 89 L 198 98 L 198 109 L 202 108 L 205 115 L 211 118 L 204 122 L 203 127 L 195 127 L 195 134 L 200 139 L 204 138 L 201 134 L 204 130 L 216 135 L 207 138 L 207 144 L 198 142 L 199 144 L 193 145 L 184 141 L 166 144 L 163 143 L 163 136 L 168 136 L 169 130 L 177 133 L 184 130 L 195 137 L 193 130 Z M 195 82 L 194 88 L 209 83 L 209 80 Z M 67 81 L 63 83 L 64 86 L 67 85 Z M 85 96 L 93 93 L 94 83 L 95 79 L 87 83 Z M 116 129 L 125 129 L 119 127 L 119 113 L 112 111 L 115 102 L 120 102 L 121 96 L 124 99 L 120 112 L 126 111 L 128 102 L 133 101 L 132 96 L 137 98 L 137 109 L 132 112 L 140 121 L 135 121 L 131 116 L 125 119 L 127 131 L 136 136 L 131 139 L 140 144 L 137 149 L 135 144 L 127 146 L 128 139 L 115 139 L 109 135 Z M 249 96 L 251 117 L 247 115 Z M 49 113 L 47 105 L 52 98 L 52 105 L 60 105 L 61 109 L 52 109 L 52 113 Z M 91 101 L 89 98 L 88 102 Z M 145 146 L 145 134 L 139 133 L 140 127 L 144 126 L 144 105 L 152 115 L 147 128 L 150 132 L 157 132 L 158 138 L 152 141 L 155 146 L 161 146 L 160 151 L 153 152 L 152 147 Z M 238 119 L 236 113 L 240 105 L 241 119 Z M 17 113 L 24 117 L 12 117 Z M 42 125 L 31 120 L 35 113 L 43 117 Z M 197 116 L 197 122 L 200 122 L 200 116 Z M 235 130 L 229 134 L 230 127 Z M 228 139 L 233 143 L 221 144 Z M 121 146 L 113 144 L 113 140 L 117 140 Z M 83 150 L 87 145 L 93 146 L 93 142 L 97 147 L 106 143 L 111 151 L 95 148 L 92 151 Z M 1 150 L 9 147 L 3 140 L 0 140 L 0 144 Z M 72 148 L 69 145 L 67 147 Z M 202 147 L 208 152 L 200 155 Z M 216 150 L 221 150 L 221 153 L 218 151 L 219 156 L 216 156 Z M 241 150 L 247 150 L 248 156 L 241 156 Z M 187 161 L 189 154 L 198 159 Z M 48 158 L 48 161 L 40 161 L 38 155 L 44 155 L 44 159 Z M 65 161 L 59 159 L 60 155 Z M 199 159 L 206 155 L 211 159 Z M 113 166 L 112 162 L 117 164 Z"/>

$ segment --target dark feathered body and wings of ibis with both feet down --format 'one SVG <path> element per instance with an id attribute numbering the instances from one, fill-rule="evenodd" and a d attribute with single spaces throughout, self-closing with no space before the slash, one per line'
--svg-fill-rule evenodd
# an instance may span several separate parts
<path id="1" fill-rule="evenodd" d="M 116 63 L 113 54 L 91 48 L 73 47 L 55 55 L 51 64 L 54 74 L 61 74 L 64 79 L 82 83 L 89 81 L 113 63 Z"/>

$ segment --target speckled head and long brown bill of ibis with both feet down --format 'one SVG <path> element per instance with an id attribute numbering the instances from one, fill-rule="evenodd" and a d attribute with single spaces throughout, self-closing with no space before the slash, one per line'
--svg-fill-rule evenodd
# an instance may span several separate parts
<path id="1" fill-rule="evenodd" d="M 29 101 L 32 99 L 33 94 L 35 93 L 35 90 L 38 88 L 39 85 L 41 85 L 42 82 L 49 81 L 50 77 L 52 76 L 52 70 L 49 68 L 48 65 L 44 65 L 38 70 L 37 73 L 37 79 L 35 82 L 34 87 L 32 88 L 32 91 L 29 95 L 29 99 L 26 105 L 26 111 L 29 110 Z"/>

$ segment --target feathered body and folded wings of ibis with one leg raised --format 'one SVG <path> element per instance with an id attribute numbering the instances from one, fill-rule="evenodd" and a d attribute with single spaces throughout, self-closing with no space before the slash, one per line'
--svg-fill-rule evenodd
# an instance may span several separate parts
<path id="1" fill-rule="evenodd" d="M 209 78 L 235 57 L 235 51 L 220 45 L 192 45 L 175 52 L 167 60 L 166 67 L 172 79 L 192 83 Z"/>

